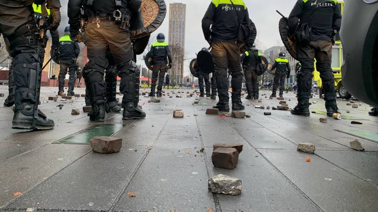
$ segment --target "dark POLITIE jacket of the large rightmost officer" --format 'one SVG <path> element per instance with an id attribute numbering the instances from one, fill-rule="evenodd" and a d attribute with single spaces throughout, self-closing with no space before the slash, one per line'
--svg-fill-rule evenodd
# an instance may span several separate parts
<path id="1" fill-rule="evenodd" d="M 312 13 L 310 27 L 313 40 L 330 40 L 334 29 L 340 30 L 341 11 L 337 0 L 298 0 L 289 16 L 290 31 L 295 31 L 299 20 L 299 24 L 308 23 Z"/>

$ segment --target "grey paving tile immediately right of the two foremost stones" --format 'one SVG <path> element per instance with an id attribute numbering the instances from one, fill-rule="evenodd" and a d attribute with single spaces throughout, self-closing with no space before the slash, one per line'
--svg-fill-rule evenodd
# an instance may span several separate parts
<path id="1" fill-rule="evenodd" d="M 216 168 L 206 148 L 212 175 L 225 174 L 242 180 L 238 196 L 217 195 L 224 212 L 318 212 L 316 206 L 291 185 L 269 162 L 249 146 L 239 155 L 233 170 Z"/>

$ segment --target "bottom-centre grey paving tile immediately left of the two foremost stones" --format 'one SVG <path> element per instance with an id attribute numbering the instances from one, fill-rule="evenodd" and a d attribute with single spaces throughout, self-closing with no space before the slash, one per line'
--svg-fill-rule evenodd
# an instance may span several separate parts
<path id="1" fill-rule="evenodd" d="M 178 152 L 180 150 L 180 152 Z M 188 154 L 191 153 L 191 154 Z M 192 149 L 154 148 L 117 203 L 117 212 L 200 212 L 213 209 L 204 157 Z M 129 197 L 133 192 L 136 197 Z"/>

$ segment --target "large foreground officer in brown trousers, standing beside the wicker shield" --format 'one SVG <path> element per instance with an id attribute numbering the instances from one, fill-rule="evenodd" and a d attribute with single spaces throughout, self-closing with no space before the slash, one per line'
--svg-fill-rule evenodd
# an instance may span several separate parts
<path id="1" fill-rule="evenodd" d="M 104 71 L 109 66 L 108 50 L 121 77 L 123 119 L 142 119 L 146 113 L 138 107 L 139 68 L 132 61 L 133 50 L 129 31 L 130 14 L 138 13 L 141 0 L 69 0 L 70 34 L 82 41 L 80 12 L 84 7 L 88 17 L 86 40 L 89 62 L 83 68 L 83 78 L 90 93 L 90 120 L 102 122 L 106 113 L 106 83 Z"/>

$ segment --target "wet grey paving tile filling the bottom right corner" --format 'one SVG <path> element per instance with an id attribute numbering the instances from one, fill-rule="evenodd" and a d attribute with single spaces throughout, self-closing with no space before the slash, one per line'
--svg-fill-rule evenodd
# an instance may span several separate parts
<path id="1" fill-rule="evenodd" d="M 295 150 L 260 150 L 324 212 L 372 212 L 378 188 L 317 156 Z M 306 162 L 306 157 L 311 162 Z"/>

